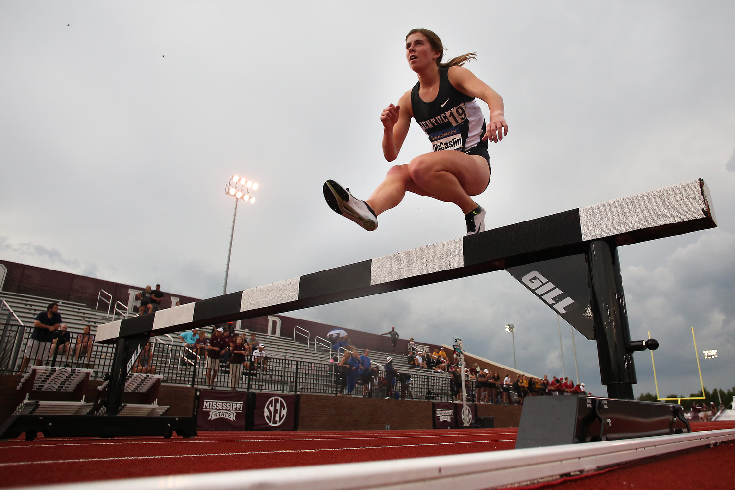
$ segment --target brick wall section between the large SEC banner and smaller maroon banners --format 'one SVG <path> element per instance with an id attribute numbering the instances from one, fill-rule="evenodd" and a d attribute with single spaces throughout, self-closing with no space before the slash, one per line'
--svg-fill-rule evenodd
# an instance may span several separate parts
<path id="1" fill-rule="evenodd" d="M 431 402 L 301 394 L 298 430 L 430 429 Z"/>

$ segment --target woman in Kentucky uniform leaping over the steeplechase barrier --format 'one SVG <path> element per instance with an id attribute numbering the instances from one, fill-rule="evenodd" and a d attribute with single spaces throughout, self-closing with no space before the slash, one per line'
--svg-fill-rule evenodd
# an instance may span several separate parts
<path id="1" fill-rule="evenodd" d="M 473 53 L 442 63 L 444 46 L 428 29 L 412 29 L 406 36 L 406 60 L 418 76 L 417 84 L 404 93 L 398 105 L 390 104 L 380 116 L 383 123 L 383 156 L 398 157 L 411 118 L 429 136 L 433 152 L 395 165 L 367 201 L 356 199 L 349 189 L 333 180 L 324 183 L 324 198 L 339 213 L 368 231 L 378 228 L 378 215 L 398 206 L 406 191 L 462 209 L 467 234 L 485 231 L 485 210 L 470 196 L 490 183 L 488 140 L 497 143 L 508 134 L 503 118 L 503 98 L 462 65 L 475 60 Z M 485 126 L 475 98 L 490 109 Z"/>

